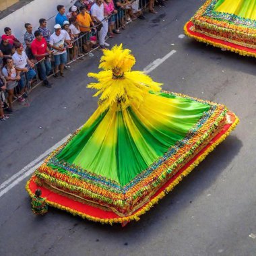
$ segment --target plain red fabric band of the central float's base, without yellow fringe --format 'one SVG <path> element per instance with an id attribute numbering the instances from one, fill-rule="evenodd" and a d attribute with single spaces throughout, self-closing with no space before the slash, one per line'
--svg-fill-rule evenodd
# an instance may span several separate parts
<path id="1" fill-rule="evenodd" d="M 231 121 L 232 121 L 232 123 L 234 123 L 234 121 L 236 120 L 235 115 L 232 114 L 232 113 L 228 113 L 228 115 L 230 115 Z M 185 166 L 183 166 L 183 168 L 181 168 L 181 170 L 179 170 L 177 172 L 177 174 L 174 175 L 174 177 L 172 177 L 163 187 L 161 187 L 156 192 L 156 194 L 154 194 L 151 197 L 150 200 L 154 199 L 157 195 L 159 195 L 162 191 L 164 191 L 164 189 L 166 189 L 166 187 L 168 187 L 173 181 L 175 181 L 175 179 L 177 179 L 182 174 L 182 172 L 184 170 L 186 170 L 191 164 L 193 164 L 193 162 L 195 162 L 195 160 L 197 160 L 197 158 L 199 158 L 201 156 L 201 154 L 203 154 L 205 152 L 205 150 L 207 150 L 207 148 L 212 146 L 212 144 L 214 142 L 216 142 L 222 135 L 224 135 L 228 131 L 228 129 L 230 128 L 232 123 L 224 125 L 222 131 L 220 131 L 220 133 L 218 133 L 214 137 L 214 139 L 212 139 L 212 141 L 210 141 L 210 143 L 208 143 L 207 146 L 205 148 L 203 148 L 203 150 L 201 150 L 191 161 L 189 161 Z M 109 220 L 110 219 L 115 219 L 115 218 L 120 218 L 114 212 L 106 212 L 106 211 L 101 210 L 97 207 L 93 207 L 93 206 L 87 205 L 85 203 L 80 203 L 78 201 L 74 201 L 72 199 L 69 199 L 69 198 L 67 198 L 63 195 L 59 195 L 57 193 L 54 193 L 53 191 L 51 191 L 49 189 L 46 189 L 44 187 L 38 187 L 38 185 L 36 185 L 36 183 L 34 183 L 34 179 L 35 179 L 35 177 L 32 177 L 32 179 L 30 179 L 30 183 L 28 185 L 28 188 L 30 189 L 30 191 L 32 193 L 34 193 L 36 191 L 36 189 L 40 188 L 41 191 L 42 191 L 42 197 L 46 197 L 46 199 L 48 201 L 58 203 L 59 205 L 69 207 L 72 210 L 75 210 L 75 211 L 80 212 L 82 214 L 87 214 L 87 215 L 95 217 L 95 218 L 109 219 Z M 143 205 L 141 208 L 145 207 L 146 205 L 148 205 L 148 203 Z M 141 208 L 139 210 L 141 210 Z M 139 210 L 137 210 L 137 212 Z M 133 214 L 135 214 L 135 213 L 133 213 Z M 133 216 L 133 214 L 131 216 Z"/>

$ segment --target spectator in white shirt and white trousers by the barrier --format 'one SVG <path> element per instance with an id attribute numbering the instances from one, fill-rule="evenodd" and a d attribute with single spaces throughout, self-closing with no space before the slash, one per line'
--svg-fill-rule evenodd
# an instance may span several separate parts
<path id="1" fill-rule="evenodd" d="M 104 5 L 103 0 L 96 0 L 96 3 L 91 7 L 92 20 L 96 20 L 98 23 L 102 23 L 102 28 L 98 32 L 100 48 L 104 49 L 105 46 L 109 46 L 105 42 L 106 34 L 108 33 L 108 20 L 104 19 Z"/>

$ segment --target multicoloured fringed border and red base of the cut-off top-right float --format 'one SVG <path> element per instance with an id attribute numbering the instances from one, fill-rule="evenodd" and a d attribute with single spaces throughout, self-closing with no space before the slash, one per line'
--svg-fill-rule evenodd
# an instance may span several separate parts
<path id="1" fill-rule="evenodd" d="M 215 4 L 215 0 L 206 1 L 185 24 L 185 34 L 239 55 L 256 57 L 256 22 L 213 11 Z"/>

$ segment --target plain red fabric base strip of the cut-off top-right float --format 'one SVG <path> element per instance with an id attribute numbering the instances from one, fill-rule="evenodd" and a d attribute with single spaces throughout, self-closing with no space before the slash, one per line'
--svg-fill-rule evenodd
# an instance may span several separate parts
<path id="1" fill-rule="evenodd" d="M 249 48 L 249 47 L 245 47 L 245 46 L 241 46 L 241 45 L 238 45 L 238 44 L 233 44 L 232 42 L 227 42 L 225 40 L 221 40 L 221 39 L 216 39 L 216 38 L 212 38 L 210 36 L 205 36 L 205 34 L 201 34 L 199 32 L 195 32 L 195 31 L 192 31 L 190 30 L 190 28 L 194 26 L 193 22 L 188 22 L 186 24 L 186 27 L 187 27 L 187 32 L 191 35 L 191 36 L 196 36 L 196 37 L 199 37 L 199 38 L 203 38 L 207 41 L 209 41 L 209 43 L 213 42 L 213 43 L 218 43 L 218 44 L 222 44 L 223 47 L 225 46 L 230 46 L 234 49 L 238 49 L 238 50 L 241 50 L 241 51 L 245 51 L 247 53 L 252 53 L 252 54 L 255 54 L 256 55 L 256 49 L 252 49 L 252 48 Z"/>

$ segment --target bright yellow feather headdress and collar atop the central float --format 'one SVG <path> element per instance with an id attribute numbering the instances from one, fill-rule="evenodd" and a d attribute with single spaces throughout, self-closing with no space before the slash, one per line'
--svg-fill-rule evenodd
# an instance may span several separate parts
<path id="1" fill-rule="evenodd" d="M 104 112 L 110 107 L 122 110 L 128 106 L 138 108 L 143 100 L 150 100 L 149 92 L 159 92 L 160 83 L 154 82 L 149 75 L 141 71 L 130 71 L 135 63 L 133 55 L 128 49 L 123 50 L 122 44 L 114 46 L 113 49 L 104 51 L 100 60 L 100 67 L 105 69 L 99 73 L 88 73 L 98 83 L 91 83 L 88 88 L 98 90 L 94 96 L 99 96 L 99 110 Z M 122 69 L 123 75 L 119 78 L 113 77 L 113 69 Z"/>

